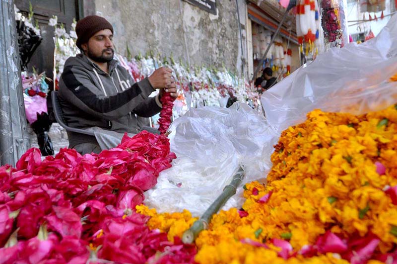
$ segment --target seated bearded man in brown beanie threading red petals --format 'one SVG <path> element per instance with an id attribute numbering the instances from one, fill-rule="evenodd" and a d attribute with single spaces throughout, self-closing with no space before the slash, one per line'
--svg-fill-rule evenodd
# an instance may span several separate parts
<path id="1" fill-rule="evenodd" d="M 91 15 L 79 20 L 76 34 L 82 54 L 66 60 L 59 84 L 60 103 L 70 127 L 95 133 L 93 137 L 68 131 L 69 147 L 81 154 L 99 153 L 120 143 L 124 132 L 148 130 L 139 117 L 157 114 L 164 90 L 174 97 L 177 90 L 169 68 L 159 68 L 134 84 L 113 59 L 113 27 L 105 18 Z M 155 89 L 160 89 L 159 94 L 148 97 Z"/>

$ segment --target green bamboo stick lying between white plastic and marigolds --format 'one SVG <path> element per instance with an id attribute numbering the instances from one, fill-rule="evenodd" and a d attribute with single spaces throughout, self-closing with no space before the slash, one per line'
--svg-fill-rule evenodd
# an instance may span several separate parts
<path id="1" fill-rule="evenodd" d="M 208 229 L 208 223 L 211 221 L 212 216 L 216 214 L 220 208 L 222 208 L 222 206 L 227 202 L 227 200 L 230 199 L 230 197 L 236 194 L 236 189 L 240 185 L 244 176 L 244 169 L 240 167 L 237 174 L 233 176 L 230 184 L 226 185 L 225 188 L 223 188 L 222 193 L 208 207 L 208 209 L 204 212 L 200 219 L 194 222 L 193 226 L 183 233 L 183 243 L 193 243 L 202 230 Z"/>

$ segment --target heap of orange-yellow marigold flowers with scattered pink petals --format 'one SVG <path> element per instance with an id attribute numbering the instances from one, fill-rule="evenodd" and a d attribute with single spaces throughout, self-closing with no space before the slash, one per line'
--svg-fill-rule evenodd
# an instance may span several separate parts
<path id="1" fill-rule="evenodd" d="M 282 132 L 267 184 L 244 186 L 196 240 L 200 264 L 397 263 L 397 105 L 355 116 L 314 110 Z M 194 218 L 157 214 L 178 240 Z"/>

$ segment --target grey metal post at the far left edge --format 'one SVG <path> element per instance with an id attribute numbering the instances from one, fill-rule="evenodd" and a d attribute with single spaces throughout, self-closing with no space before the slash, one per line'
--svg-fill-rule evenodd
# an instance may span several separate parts
<path id="1" fill-rule="evenodd" d="M 26 130 L 14 1 L 0 1 L 0 162 L 15 165 L 30 143 Z"/>

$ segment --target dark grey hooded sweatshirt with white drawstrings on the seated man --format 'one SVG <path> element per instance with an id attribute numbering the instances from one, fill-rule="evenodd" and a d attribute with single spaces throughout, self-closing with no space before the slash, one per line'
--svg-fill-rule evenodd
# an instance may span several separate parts
<path id="1" fill-rule="evenodd" d="M 131 75 L 116 60 L 109 62 L 109 74 L 87 56 L 79 54 L 66 60 L 59 83 L 59 99 L 70 127 L 99 127 L 120 133 L 139 133 L 140 117 L 161 110 L 158 96 L 148 97 L 155 89 L 147 78 L 134 83 Z M 69 147 L 96 143 L 95 137 L 68 132 Z"/>

